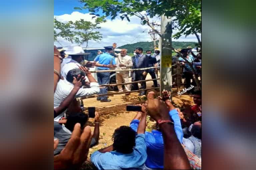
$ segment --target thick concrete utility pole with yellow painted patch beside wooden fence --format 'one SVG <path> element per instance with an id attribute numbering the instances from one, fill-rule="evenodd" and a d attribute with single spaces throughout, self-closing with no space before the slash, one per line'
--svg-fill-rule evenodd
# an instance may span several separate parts
<path id="1" fill-rule="evenodd" d="M 161 17 L 161 68 L 160 95 L 163 90 L 172 92 L 172 19 Z M 160 46 L 159 46 L 160 47 Z"/>

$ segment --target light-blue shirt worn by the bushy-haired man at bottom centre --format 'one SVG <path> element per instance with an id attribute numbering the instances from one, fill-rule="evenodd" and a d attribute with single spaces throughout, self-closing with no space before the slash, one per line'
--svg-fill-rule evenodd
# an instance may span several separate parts
<path id="1" fill-rule="evenodd" d="M 135 142 L 136 145 L 132 153 L 123 154 L 117 151 L 101 153 L 95 151 L 91 155 L 91 162 L 98 169 L 142 169 L 147 159 L 145 134 L 137 134 Z"/>

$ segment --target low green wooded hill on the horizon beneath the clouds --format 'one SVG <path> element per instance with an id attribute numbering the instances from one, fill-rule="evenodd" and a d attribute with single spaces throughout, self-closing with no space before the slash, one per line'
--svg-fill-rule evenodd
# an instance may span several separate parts
<path id="1" fill-rule="evenodd" d="M 175 49 L 177 49 L 177 48 L 186 48 L 187 46 L 192 46 L 194 48 L 194 47 L 196 47 L 195 43 L 197 43 L 197 42 L 177 42 L 177 41 L 173 41 L 172 46 Z M 156 44 L 158 44 L 158 41 L 157 41 Z M 153 50 L 154 43 L 153 42 L 136 42 L 136 43 L 133 43 L 133 44 L 122 45 L 122 46 L 119 46 L 118 48 L 125 48 L 125 49 L 128 50 L 128 53 L 133 53 L 133 51 L 135 50 L 136 47 L 143 48 L 143 51 Z"/>

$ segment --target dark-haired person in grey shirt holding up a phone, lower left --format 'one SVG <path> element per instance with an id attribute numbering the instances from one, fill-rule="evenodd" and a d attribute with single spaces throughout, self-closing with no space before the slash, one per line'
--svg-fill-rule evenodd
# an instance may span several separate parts
<path id="1" fill-rule="evenodd" d="M 54 155 L 59 154 L 62 149 L 66 146 L 69 139 L 71 138 L 71 133 L 74 129 L 76 123 L 81 125 L 81 130 L 85 127 L 85 124 L 88 120 L 88 115 L 84 113 L 72 113 L 67 117 L 66 124 L 60 125 L 58 122 L 54 122 L 54 138 L 59 139 L 59 144 L 54 150 Z M 91 139 L 90 147 L 95 146 L 99 141 L 100 135 L 100 126 L 99 126 L 99 114 L 95 112 L 94 118 L 95 128 L 93 136 Z"/>

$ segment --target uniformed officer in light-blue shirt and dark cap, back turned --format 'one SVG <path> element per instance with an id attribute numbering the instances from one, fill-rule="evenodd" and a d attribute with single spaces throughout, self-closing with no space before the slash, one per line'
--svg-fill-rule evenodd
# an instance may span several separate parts
<path id="1" fill-rule="evenodd" d="M 110 68 L 116 68 L 115 57 L 110 55 L 113 53 L 112 46 L 104 46 L 105 53 L 97 55 L 94 59 L 95 66 L 98 67 L 97 70 L 109 70 Z M 97 73 L 98 83 L 101 84 L 109 84 L 110 72 L 99 72 Z M 108 87 L 103 87 L 100 89 L 100 94 L 106 94 L 108 92 Z M 108 96 L 100 96 L 97 97 L 98 101 L 101 102 L 111 102 L 108 99 Z"/>

